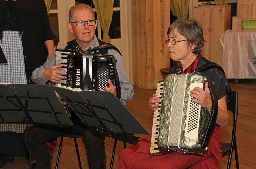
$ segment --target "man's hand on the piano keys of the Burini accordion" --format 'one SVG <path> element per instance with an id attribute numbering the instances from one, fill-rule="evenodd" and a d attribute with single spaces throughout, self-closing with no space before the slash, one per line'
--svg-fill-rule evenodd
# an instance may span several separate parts
<path id="1" fill-rule="evenodd" d="M 61 67 L 62 65 L 55 65 L 49 69 L 46 69 L 43 73 L 43 77 L 54 83 L 57 83 L 62 79 L 66 79 L 67 73 L 62 70 L 57 70 L 58 68 L 61 68 Z"/>

